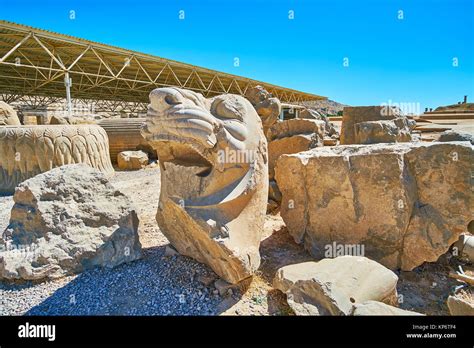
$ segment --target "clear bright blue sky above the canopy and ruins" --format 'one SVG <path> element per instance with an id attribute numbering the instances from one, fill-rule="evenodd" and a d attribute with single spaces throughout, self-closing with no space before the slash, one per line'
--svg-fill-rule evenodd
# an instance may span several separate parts
<path id="1" fill-rule="evenodd" d="M 473 3 L 0 0 L 0 18 L 350 105 L 391 101 L 423 109 L 455 103 L 465 94 L 474 101 Z"/>

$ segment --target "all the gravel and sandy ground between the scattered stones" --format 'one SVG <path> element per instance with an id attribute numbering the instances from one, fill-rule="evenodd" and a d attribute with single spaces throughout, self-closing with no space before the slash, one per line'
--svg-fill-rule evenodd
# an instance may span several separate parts
<path id="1" fill-rule="evenodd" d="M 279 215 L 267 215 L 262 263 L 252 283 L 221 296 L 214 286 L 218 278 L 210 268 L 179 254 L 165 255 L 169 242 L 155 221 L 159 168 L 117 171 L 111 182 L 135 205 L 143 258 L 115 269 L 95 269 L 44 283 L 0 282 L 0 315 L 293 314 L 285 296 L 272 289 L 272 279 L 279 267 L 312 258 L 294 242 Z M 0 231 L 8 225 L 12 206 L 11 196 L 0 197 Z M 446 298 L 458 284 L 447 274 L 458 264 L 444 256 L 436 263 L 399 273 L 400 307 L 429 315 L 449 314 Z"/>

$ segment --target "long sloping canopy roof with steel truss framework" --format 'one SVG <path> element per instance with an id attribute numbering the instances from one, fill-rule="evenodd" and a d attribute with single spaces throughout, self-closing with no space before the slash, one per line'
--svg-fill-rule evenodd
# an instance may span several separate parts
<path id="1" fill-rule="evenodd" d="M 74 99 L 148 103 L 156 87 L 178 86 L 212 97 L 244 95 L 261 85 L 284 102 L 326 99 L 244 77 L 209 70 L 67 35 L 0 21 L 0 93 L 9 98 L 66 96 Z M 16 97 L 15 97 L 16 96 Z"/>

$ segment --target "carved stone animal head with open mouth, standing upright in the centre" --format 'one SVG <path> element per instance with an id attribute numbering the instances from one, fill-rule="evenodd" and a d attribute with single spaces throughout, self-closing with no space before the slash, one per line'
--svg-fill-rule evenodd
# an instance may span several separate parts
<path id="1" fill-rule="evenodd" d="M 171 244 L 229 282 L 251 276 L 268 192 L 267 143 L 252 105 L 159 88 L 142 132 L 162 168 L 157 221 Z"/>

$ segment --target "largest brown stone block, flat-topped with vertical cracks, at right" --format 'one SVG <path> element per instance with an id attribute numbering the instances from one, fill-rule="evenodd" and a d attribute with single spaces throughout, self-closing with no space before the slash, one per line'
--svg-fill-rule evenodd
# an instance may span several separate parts
<path id="1" fill-rule="evenodd" d="M 364 247 L 391 269 L 436 261 L 473 220 L 468 142 L 315 148 L 283 155 L 281 215 L 297 243 L 324 257 Z"/>

